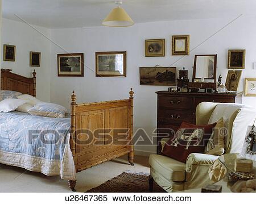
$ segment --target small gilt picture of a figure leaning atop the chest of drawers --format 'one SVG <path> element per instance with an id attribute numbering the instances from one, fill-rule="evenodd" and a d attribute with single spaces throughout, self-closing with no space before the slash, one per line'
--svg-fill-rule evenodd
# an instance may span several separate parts
<path id="1" fill-rule="evenodd" d="M 226 76 L 226 89 L 228 91 L 237 91 L 242 71 L 230 70 Z"/>

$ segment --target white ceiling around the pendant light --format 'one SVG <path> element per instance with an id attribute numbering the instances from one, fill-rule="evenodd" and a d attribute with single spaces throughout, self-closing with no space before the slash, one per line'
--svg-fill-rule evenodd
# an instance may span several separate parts
<path id="1" fill-rule="evenodd" d="M 48 28 L 101 26 L 114 0 L 3 0 L 3 18 Z M 135 23 L 255 15 L 255 0 L 123 0 Z"/>

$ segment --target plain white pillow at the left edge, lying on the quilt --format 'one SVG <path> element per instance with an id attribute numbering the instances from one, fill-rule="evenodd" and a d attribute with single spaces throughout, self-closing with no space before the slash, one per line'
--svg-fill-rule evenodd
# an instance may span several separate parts
<path id="1" fill-rule="evenodd" d="M 16 98 L 9 98 L 3 101 L 0 101 L 0 112 L 8 113 L 11 111 L 15 111 L 19 106 L 23 105 L 27 101 Z"/>

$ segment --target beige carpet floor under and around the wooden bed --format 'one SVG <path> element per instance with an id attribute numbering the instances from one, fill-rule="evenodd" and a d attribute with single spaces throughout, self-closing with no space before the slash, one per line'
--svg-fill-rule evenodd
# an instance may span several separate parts
<path id="1" fill-rule="evenodd" d="M 117 177 L 126 170 L 149 173 L 148 158 L 136 156 L 134 166 L 129 165 L 127 156 L 103 163 L 77 173 L 76 190 L 86 192 Z M 68 192 L 68 182 L 59 176 L 48 177 L 37 172 L 28 172 L 15 166 L 0 164 L 0 193 L 4 192 Z"/>

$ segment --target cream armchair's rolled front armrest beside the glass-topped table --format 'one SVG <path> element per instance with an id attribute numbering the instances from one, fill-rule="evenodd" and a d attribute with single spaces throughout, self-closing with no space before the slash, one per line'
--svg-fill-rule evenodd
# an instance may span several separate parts
<path id="1" fill-rule="evenodd" d="M 201 188 L 211 184 L 208 170 L 218 156 L 191 153 L 186 162 L 185 189 Z"/>

